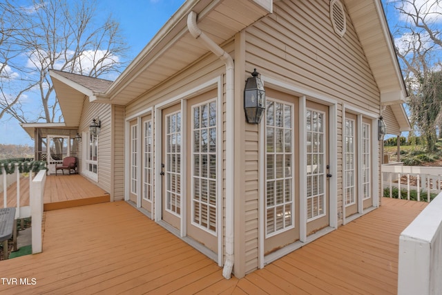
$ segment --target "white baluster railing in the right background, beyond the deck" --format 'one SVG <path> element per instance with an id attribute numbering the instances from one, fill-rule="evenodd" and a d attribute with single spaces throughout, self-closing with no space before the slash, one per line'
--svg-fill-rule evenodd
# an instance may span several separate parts
<path id="1" fill-rule="evenodd" d="M 383 189 L 387 189 L 390 198 L 394 188 L 398 189 L 399 198 L 410 200 L 412 191 L 415 191 L 416 200 L 426 199 L 427 202 L 430 202 L 432 194 L 434 196 L 442 191 L 442 167 L 385 164 L 381 172 Z M 401 197 L 404 190 L 406 197 Z"/>

